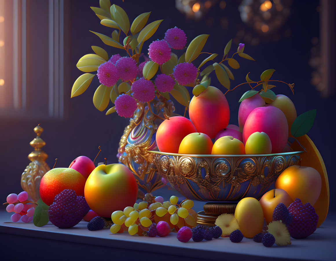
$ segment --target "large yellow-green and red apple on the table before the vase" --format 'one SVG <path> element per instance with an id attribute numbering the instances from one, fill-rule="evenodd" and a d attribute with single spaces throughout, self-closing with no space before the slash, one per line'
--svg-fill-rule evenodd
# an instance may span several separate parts
<path id="1" fill-rule="evenodd" d="M 101 164 L 85 183 L 85 200 L 101 217 L 111 217 L 112 212 L 133 206 L 138 185 L 133 173 L 123 164 Z"/>

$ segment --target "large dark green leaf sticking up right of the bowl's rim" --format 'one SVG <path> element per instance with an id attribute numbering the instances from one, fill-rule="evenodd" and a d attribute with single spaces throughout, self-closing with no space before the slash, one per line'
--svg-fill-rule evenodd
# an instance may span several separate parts
<path id="1" fill-rule="evenodd" d="M 291 134 L 293 137 L 300 137 L 307 134 L 311 129 L 316 116 L 316 109 L 306 111 L 294 120 L 291 127 Z"/>

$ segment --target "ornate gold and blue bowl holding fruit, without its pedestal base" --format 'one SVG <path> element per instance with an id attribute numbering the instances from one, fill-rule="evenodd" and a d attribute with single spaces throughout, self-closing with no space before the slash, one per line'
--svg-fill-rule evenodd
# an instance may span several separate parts
<path id="1" fill-rule="evenodd" d="M 186 155 L 150 151 L 158 173 L 188 199 L 260 199 L 304 151 L 265 155 Z"/>

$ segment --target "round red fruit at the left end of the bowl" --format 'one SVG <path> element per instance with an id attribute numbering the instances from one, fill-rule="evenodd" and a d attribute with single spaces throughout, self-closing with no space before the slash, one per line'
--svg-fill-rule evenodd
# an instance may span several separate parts
<path id="1" fill-rule="evenodd" d="M 188 134 L 196 132 L 190 119 L 181 116 L 164 120 L 156 132 L 156 144 L 162 152 L 178 153 L 181 141 Z"/>

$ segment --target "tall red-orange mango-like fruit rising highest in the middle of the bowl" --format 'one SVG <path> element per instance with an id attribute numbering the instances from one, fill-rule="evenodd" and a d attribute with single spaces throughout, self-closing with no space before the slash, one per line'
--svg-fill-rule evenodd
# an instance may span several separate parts
<path id="1" fill-rule="evenodd" d="M 214 139 L 229 123 L 230 111 L 225 95 L 216 87 L 209 86 L 190 101 L 189 117 L 197 132 Z"/>

